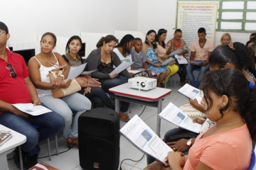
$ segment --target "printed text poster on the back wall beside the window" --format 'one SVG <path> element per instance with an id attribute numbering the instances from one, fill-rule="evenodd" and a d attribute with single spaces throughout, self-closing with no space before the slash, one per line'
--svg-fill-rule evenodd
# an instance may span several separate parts
<path id="1" fill-rule="evenodd" d="M 182 39 L 191 50 L 193 41 L 198 40 L 198 28 L 206 28 L 206 39 L 214 44 L 218 3 L 178 2 L 177 28 L 182 30 Z"/>

